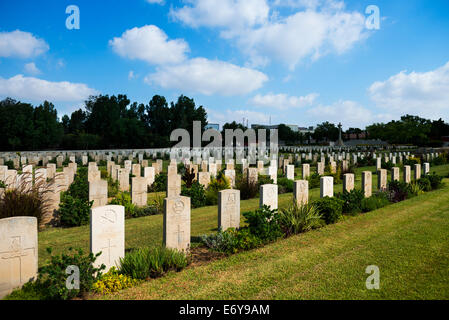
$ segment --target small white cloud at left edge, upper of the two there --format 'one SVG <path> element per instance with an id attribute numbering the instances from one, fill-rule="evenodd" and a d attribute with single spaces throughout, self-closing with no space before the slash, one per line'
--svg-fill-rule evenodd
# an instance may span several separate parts
<path id="1" fill-rule="evenodd" d="M 31 58 L 48 51 L 49 48 L 44 40 L 29 32 L 0 32 L 0 57 Z"/>

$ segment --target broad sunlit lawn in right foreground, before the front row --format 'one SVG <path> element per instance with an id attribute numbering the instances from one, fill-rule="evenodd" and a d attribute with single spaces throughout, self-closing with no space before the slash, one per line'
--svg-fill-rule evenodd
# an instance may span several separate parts
<path id="1" fill-rule="evenodd" d="M 443 189 L 101 298 L 448 299 L 445 182 Z M 196 217 L 193 227 L 198 223 L 209 225 Z M 380 290 L 365 287 L 368 265 L 380 269 Z"/>

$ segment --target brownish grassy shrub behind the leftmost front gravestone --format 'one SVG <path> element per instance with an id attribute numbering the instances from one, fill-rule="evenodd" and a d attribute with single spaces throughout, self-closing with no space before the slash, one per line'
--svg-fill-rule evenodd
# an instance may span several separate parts
<path id="1" fill-rule="evenodd" d="M 38 224 L 49 206 L 45 194 L 49 192 L 46 182 L 36 182 L 30 185 L 25 181 L 11 190 L 5 190 L 0 198 L 0 219 L 10 217 L 29 216 L 36 217 Z"/>

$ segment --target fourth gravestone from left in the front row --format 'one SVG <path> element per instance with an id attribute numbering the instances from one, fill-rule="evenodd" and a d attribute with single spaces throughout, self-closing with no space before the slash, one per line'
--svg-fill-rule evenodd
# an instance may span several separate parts
<path id="1" fill-rule="evenodd" d="M 218 228 L 240 227 L 240 190 L 227 189 L 218 192 Z"/>

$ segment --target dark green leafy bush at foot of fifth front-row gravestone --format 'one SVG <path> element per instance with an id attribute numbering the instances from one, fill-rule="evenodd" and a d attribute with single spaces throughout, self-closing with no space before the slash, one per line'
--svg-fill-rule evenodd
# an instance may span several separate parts
<path id="1" fill-rule="evenodd" d="M 277 210 L 264 205 L 255 211 L 243 213 L 248 230 L 263 242 L 271 242 L 282 236 Z"/>

